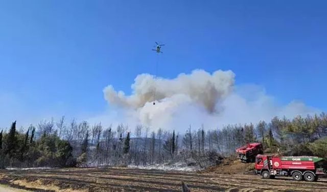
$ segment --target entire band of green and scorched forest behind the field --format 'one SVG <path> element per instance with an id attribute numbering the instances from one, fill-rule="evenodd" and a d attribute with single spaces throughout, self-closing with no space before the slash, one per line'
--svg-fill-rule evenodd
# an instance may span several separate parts
<path id="1" fill-rule="evenodd" d="M 172 164 L 207 167 L 235 154 L 248 142 L 265 153 L 327 158 L 327 115 L 274 117 L 256 124 L 185 127 L 184 133 L 137 125 L 104 127 L 65 117 L 16 129 L 0 129 L 0 168 L 106 167 Z"/>

